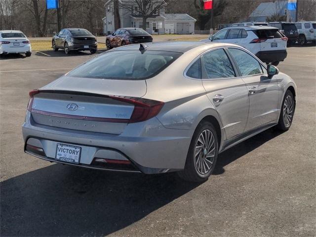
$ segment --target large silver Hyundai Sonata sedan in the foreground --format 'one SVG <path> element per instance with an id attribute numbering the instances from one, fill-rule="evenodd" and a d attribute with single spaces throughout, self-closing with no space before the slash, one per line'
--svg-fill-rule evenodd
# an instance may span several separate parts
<path id="1" fill-rule="evenodd" d="M 102 53 L 30 92 L 26 153 L 202 182 L 219 153 L 293 121 L 296 84 L 234 44 L 161 42 Z"/>

